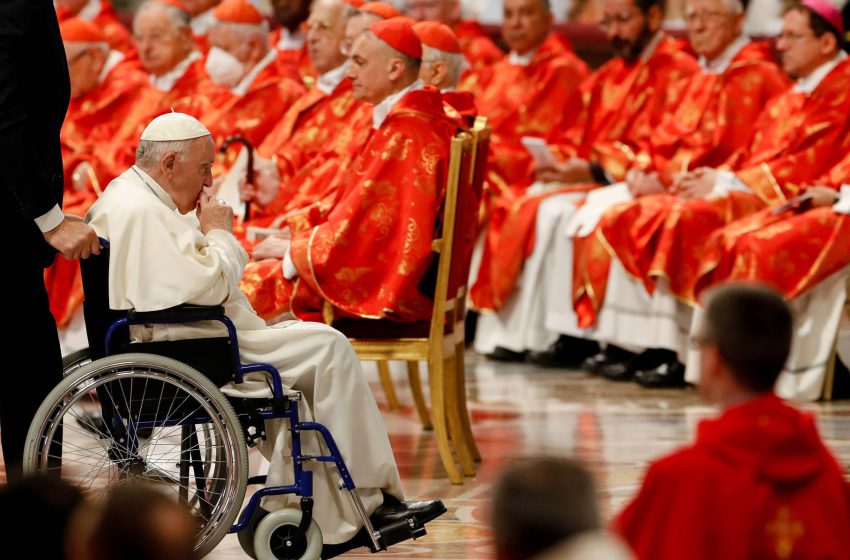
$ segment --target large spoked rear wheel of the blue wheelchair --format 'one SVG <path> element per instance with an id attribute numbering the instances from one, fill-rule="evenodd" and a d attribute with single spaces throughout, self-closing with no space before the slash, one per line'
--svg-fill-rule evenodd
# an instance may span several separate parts
<path id="1" fill-rule="evenodd" d="M 102 416 L 93 425 L 93 416 Z M 97 499 L 130 480 L 188 504 L 209 553 L 239 514 L 248 450 L 233 407 L 182 362 L 119 354 L 79 367 L 48 395 L 27 436 L 24 468 L 60 474 Z"/>

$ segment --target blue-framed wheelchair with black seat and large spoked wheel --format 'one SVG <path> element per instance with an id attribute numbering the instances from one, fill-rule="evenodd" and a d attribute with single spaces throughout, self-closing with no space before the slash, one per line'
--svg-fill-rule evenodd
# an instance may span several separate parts
<path id="1" fill-rule="evenodd" d="M 27 438 L 27 472 L 59 474 L 97 496 L 131 481 L 151 483 L 186 504 L 199 521 L 198 556 L 212 551 L 228 533 L 237 533 L 252 558 L 318 559 L 337 552 L 323 547 L 312 518 L 310 462 L 333 463 L 340 491 L 359 513 L 372 552 L 426 534 L 415 517 L 373 526 L 357 495 L 333 436 L 317 422 L 299 419 L 301 394 L 283 387 L 270 364 L 242 364 L 236 328 L 223 306 L 183 305 L 164 311 L 109 308 L 109 244 L 82 262 L 84 315 L 89 348 L 65 357 L 62 381 L 36 413 Z M 226 337 L 131 343 L 132 325 L 217 321 Z M 203 373 L 202 373 L 203 372 Z M 262 372 L 271 397 L 226 396 L 219 387 Z M 265 436 L 267 420 L 289 422 L 294 483 L 259 488 L 245 501 L 248 485 L 265 476 L 248 476 L 248 446 Z M 306 455 L 301 434 L 315 432 L 323 455 Z M 266 512 L 266 496 L 294 494 L 300 509 Z M 324 552 L 323 552 L 324 549 Z"/>

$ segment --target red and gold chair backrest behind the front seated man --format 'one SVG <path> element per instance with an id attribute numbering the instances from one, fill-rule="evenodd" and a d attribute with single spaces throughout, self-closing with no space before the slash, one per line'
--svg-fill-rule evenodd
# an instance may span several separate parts
<path id="1" fill-rule="evenodd" d="M 455 325 L 466 314 L 466 288 L 478 235 L 478 208 L 489 143 L 490 129 L 484 117 L 476 119 L 471 133 L 461 132 L 452 139 L 442 235 L 432 243 L 440 255 L 431 318 L 432 341 L 455 332 Z M 460 331 L 462 336 L 463 329 Z"/>

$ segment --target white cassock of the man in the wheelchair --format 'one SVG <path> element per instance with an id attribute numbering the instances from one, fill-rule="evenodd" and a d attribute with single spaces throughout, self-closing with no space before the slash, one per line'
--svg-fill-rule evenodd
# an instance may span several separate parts
<path id="1" fill-rule="evenodd" d="M 155 311 L 182 303 L 224 304 L 236 325 L 243 362 L 267 362 L 283 383 L 304 394 L 302 419 L 321 422 L 333 434 L 368 512 L 382 502 L 381 489 L 402 498 L 401 480 L 380 411 L 360 362 L 344 335 L 318 323 L 288 321 L 266 326 L 239 290 L 248 255 L 222 229 L 201 233 L 194 213 L 182 216 L 174 201 L 149 175 L 132 167 L 109 184 L 87 221 L 110 242 L 109 305 L 113 309 Z M 140 326 L 133 340 L 177 340 L 223 336 L 219 323 Z M 244 386 L 225 386 L 235 396 L 267 396 L 261 374 Z M 270 424 L 270 423 L 267 423 Z M 269 460 L 267 484 L 292 482 L 286 426 L 267 425 L 260 450 Z M 314 435 L 304 434 L 305 453 L 318 451 Z M 310 465 L 314 475 L 314 517 L 325 543 L 344 542 L 360 519 L 347 493 L 337 489 L 336 468 Z M 266 499 L 281 507 L 294 499 Z"/>

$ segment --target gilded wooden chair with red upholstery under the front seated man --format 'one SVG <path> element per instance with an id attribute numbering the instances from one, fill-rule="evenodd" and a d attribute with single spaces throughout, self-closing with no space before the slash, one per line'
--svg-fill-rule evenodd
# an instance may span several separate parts
<path id="1" fill-rule="evenodd" d="M 459 132 L 452 139 L 442 220 L 431 244 L 438 259 L 431 319 L 418 323 L 336 319 L 330 304 L 326 302 L 324 309 L 325 322 L 349 337 L 360 359 L 378 363 L 381 385 L 391 407 L 398 406 L 398 397 L 388 362 L 407 362 L 422 425 L 425 429 L 433 427 L 440 458 L 454 484 L 462 483 L 464 475 L 473 476 L 475 462 L 481 460 L 466 406 L 463 353 L 467 279 L 489 140 L 490 130 L 481 117 L 471 132 Z M 428 362 L 430 414 L 420 360 Z"/>

